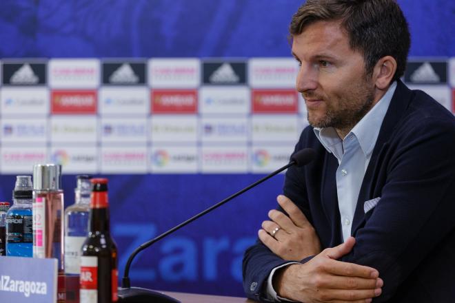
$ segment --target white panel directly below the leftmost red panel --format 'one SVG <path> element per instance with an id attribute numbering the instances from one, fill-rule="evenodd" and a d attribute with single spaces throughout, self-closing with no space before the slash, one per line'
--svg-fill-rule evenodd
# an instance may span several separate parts
<path id="1" fill-rule="evenodd" d="M 51 116 L 53 143 L 97 143 L 96 116 Z"/>

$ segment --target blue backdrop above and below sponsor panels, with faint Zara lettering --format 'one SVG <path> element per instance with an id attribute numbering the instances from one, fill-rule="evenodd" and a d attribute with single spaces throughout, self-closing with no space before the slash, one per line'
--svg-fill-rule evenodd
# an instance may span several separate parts
<path id="1" fill-rule="evenodd" d="M 289 56 L 294 0 L 3 0 L 0 57 Z M 455 3 L 398 1 L 410 23 L 411 56 L 455 55 Z M 113 175 L 112 232 L 121 269 L 137 245 L 248 185 L 260 175 Z M 241 259 L 283 176 L 190 224 L 141 253 L 132 283 L 154 289 L 243 295 Z M 63 177 L 65 205 L 74 176 Z M 0 176 L 10 200 L 14 176 Z"/>

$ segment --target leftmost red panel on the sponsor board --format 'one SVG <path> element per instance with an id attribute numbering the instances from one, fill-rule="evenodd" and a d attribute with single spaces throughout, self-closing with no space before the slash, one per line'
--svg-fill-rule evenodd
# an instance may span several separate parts
<path id="1" fill-rule="evenodd" d="M 92 90 L 54 90 L 52 114 L 96 114 L 97 92 Z"/>

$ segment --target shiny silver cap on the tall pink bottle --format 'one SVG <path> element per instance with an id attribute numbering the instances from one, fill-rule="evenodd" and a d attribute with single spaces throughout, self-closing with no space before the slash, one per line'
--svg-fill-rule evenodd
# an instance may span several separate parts
<path id="1" fill-rule="evenodd" d="M 61 165 L 37 164 L 33 167 L 33 189 L 61 189 Z"/>

